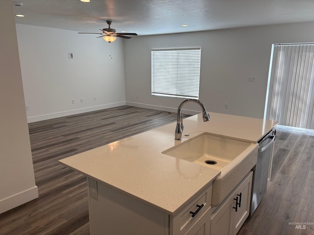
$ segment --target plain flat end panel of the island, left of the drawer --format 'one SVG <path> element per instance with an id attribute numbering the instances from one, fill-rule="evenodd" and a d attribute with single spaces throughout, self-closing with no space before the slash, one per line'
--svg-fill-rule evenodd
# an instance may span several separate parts
<path id="1" fill-rule="evenodd" d="M 91 235 L 164 235 L 169 231 L 164 212 L 99 182 L 98 198 L 89 196 L 89 201 Z"/>

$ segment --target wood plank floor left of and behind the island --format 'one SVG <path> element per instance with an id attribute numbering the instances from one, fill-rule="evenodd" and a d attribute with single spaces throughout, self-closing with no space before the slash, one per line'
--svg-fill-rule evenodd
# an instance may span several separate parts
<path id="1" fill-rule="evenodd" d="M 89 235 L 86 178 L 57 161 L 176 118 L 121 106 L 29 123 L 39 198 L 0 214 L 0 235 Z"/>

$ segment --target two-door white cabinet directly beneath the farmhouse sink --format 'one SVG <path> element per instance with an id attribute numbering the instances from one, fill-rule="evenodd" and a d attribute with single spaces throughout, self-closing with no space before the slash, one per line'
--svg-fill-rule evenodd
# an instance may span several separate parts
<path id="1" fill-rule="evenodd" d="M 249 216 L 253 172 L 251 171 L 210 218 L 210 235 L 236 235 Z"/>

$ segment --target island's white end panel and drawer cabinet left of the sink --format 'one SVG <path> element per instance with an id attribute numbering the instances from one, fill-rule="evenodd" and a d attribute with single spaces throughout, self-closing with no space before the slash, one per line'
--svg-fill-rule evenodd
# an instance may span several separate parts
<path id="1" fill-rule="evenodd" d="M 88 187 L 90 187 L 90 182 Z M 119 190 L 97 182 L 98 197 L 89 191 L 91 235 L 209 235 L 212 184 L 168 214 Z M 193 216 L 194 215 L 194 216 Z"/>

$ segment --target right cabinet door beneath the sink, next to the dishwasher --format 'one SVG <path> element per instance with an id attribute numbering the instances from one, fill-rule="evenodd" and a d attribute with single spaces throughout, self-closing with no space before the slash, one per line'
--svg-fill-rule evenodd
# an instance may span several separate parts
<path id="1" fill-rule="evenodd" d="M 250 213 L 251 191 L 252 191 L 253 172 L 251 171 L 248 177 L 236 189 L 233 198 L 236 204 L 236 211 L 234 211 L 234 229 L 233 234 L 236 235 L 243 225 Z M 234 209 L 235 210 L 235 209 Z"/>

